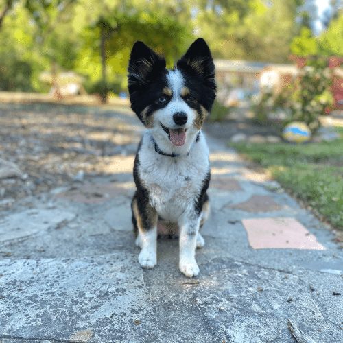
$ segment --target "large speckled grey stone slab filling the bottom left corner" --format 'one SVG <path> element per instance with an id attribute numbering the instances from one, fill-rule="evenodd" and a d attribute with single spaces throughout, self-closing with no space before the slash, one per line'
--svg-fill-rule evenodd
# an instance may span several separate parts
<path id="1" fill-rule="evenodd" d="M 141 342 L 149 309 L 135 255 L 8 259 L 0 273 L 0 338 Z"/>

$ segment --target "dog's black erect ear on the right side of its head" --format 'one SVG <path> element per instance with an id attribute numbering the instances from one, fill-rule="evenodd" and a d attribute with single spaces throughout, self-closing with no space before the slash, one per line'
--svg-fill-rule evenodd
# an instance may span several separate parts
<path id="1" fill-rule="evenodd" d="M 215 89 L 215 67 L 209 46 L 204 39 L 194 41 L 186 54 L 178 60 L 178 69 L 199 75 L 206 86 Z"/>

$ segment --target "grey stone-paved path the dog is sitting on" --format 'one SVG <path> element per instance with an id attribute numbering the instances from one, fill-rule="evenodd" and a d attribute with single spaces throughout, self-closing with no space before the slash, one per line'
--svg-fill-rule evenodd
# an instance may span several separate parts
<path id="1" fill-rule="evenodd" d="M 212 210 L 196 279 L 178 271 L 176 239 L 159 239 L 156 268 L 139 267 L 133 154 L 0 213 L 0 342 L 294 342 L 288 319 L 315 342 L 343 342 L 333 235 L 208 141 Z"/>

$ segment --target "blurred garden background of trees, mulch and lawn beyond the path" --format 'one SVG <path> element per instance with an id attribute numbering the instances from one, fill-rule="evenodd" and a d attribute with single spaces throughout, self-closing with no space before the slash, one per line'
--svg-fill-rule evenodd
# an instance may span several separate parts
<path id="1" fill-rule="evenodd" d="M 0 206 L 134 154 L 134 41 L 172 67 L 197 37 L 218 85 L 206 132 L 343 226 L 340 0 L 0 0 Z"/>

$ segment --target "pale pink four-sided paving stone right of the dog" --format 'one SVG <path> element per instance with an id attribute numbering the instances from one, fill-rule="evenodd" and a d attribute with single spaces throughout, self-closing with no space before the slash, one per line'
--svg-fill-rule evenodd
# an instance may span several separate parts
<path id="1" fill-rule="evenodd" d="M 295 218 L 254 218 L 242 220 L 254 249 L 293 248 L 325 250 L 316 236 Z"/>

